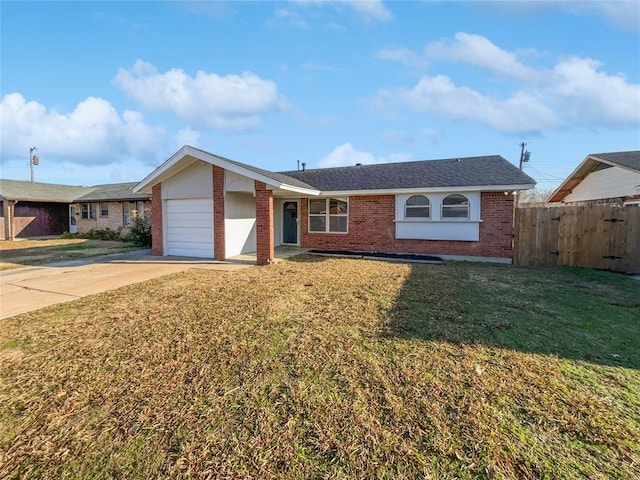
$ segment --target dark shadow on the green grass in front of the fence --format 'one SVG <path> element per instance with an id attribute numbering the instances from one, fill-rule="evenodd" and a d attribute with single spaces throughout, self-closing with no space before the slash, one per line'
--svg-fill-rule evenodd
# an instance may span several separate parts
<path id="1" fill-rule="evenodd" d="M 581 268 L 413 265 L 387 327 L 400 338 L 640 369 L 640 282 Z"/>

